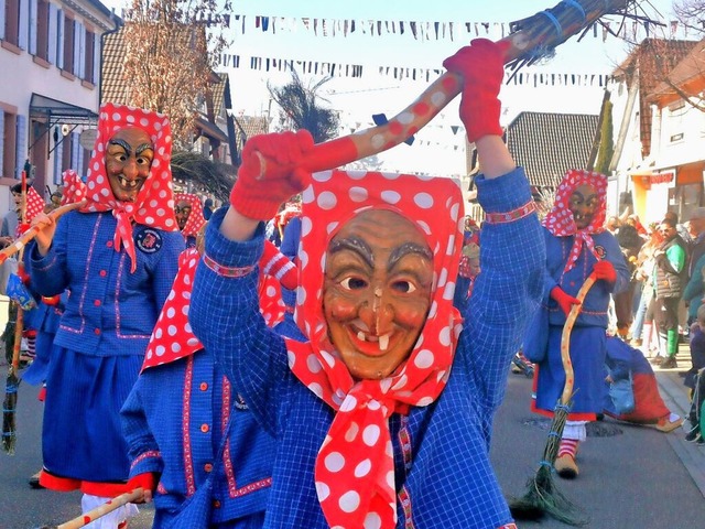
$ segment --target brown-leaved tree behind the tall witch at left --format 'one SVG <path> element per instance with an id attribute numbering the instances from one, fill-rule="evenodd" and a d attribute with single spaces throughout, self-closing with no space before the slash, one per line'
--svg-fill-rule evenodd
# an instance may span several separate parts
<path id="1" fill-rule="evenodd" d="M 126 13 L 124 82 L 130 105 L 170 117 L 177 148 L 188 148 L 216 57 L 228 42 L 215 25 L 216 0 L 131 0 Z M 223 11 L 231 9 L 226 1 Z"/>

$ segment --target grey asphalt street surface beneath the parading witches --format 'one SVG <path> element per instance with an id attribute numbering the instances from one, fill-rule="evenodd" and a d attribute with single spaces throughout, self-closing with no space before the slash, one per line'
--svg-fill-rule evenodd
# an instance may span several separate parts
<path id="1" fill-rule="evenodd" d="M 679 355 L 685 368 L 686 349 Z M 4 367 L 2 368 L 4 373 Z M 687 396 L 676 370 L 659 371 L 666 404 L 684 414 Z M 505 404 L 492 440 L 492 458 L 508 496 L 521 495 L 533 477 L 546 443 L 549 421 L 529 411 L 531 381 L 509 375 Z M 0 454 L 0 529 L 58 525 L 79 514 L 78 494 L 32 490 L 26 479 L 41 465 L 42 404 L 37 388 L 22 384 L 19 395 L 18 449 Z M 560 489 L 588 515 L 595 529 L 705 527 L 705 447 L 684 440 L 684 431 L 663 434 L 651 428 L 598 423 L 581 447 L 581 475 L 558 481 Z M 560 479 L 560 478 L 556 478 Z M 151 508 L 143 508 L 131 529 L 151 527 Z M 552 519 L 520 522 L 521 528 L 565 528 Z M 451 529 L 451 528 L 448 528 Z"/>

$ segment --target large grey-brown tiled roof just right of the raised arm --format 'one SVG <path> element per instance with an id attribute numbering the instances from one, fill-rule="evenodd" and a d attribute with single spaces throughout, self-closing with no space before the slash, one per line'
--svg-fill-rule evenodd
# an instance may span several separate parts
<path id="1" fill-rule="evenodd" d="M 507 147 L 534 186 L 556 187 L 568 169 L 585 169 L 599 116 L 521 112 L 507 127 Z"/>

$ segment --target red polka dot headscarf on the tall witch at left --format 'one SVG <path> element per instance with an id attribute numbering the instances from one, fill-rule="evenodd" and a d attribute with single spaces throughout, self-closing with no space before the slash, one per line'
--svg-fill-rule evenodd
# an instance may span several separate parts
<path id="1" fill-rule="evenodd" d="M 154 159 L 150 173 L 140 190 L 134 203 L 118 201 L 112 194 L 106 173 L 106 152 L 108 141 L 120 129 L 135 127 L 144 130 L 152 140 Z M 115 233 L 115 249 L 124 250 L 132 261 L 131 271 L 137 269 L 134 241 L 132 240 L 132 222 L 163 229 L 177 231 L 174 216 L 174 197 L 172 192 L 172 132 L 169 118 L 161 114 L 127 107 L 112 102 L 100 107 L 98 119 L 98 137 L 88 164 L 87 205 L 82 212 L 108 212 L 118 220 Z"/>

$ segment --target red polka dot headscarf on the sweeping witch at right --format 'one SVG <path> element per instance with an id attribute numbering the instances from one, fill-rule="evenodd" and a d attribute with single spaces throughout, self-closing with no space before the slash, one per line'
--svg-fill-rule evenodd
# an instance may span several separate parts
<path id="1" fill-rule="evenodd" d="M 575 219 L 573 213 L 570 209 L 570 201 L 573 191 L 579 185 L 592 185 L 597 190 L 599 197 L 599 207 L 597 213 L 593 217 L 593 222 L 584 229 L 577 229 L 575 226 Z M 571 169 L 565 173 L 558 188 L 555 193 L 555 202 L 553 208 L 546 215 L 543 220 L 543 225 L 549 231 L 556 237 L 575 236 L 568 260 L 565 263 L 563 272 L 567 272 L 575 266 L 575 261 L 583 251 L 583 245 L 599 259 L 595 251 L 595 242 L 593 241 L 593 234 L 600 234 L 605 231 L 605 215 L 607 210 L 607 176 L 600 173 L 594 173 L 592 171 L 579 171 Z"/>

